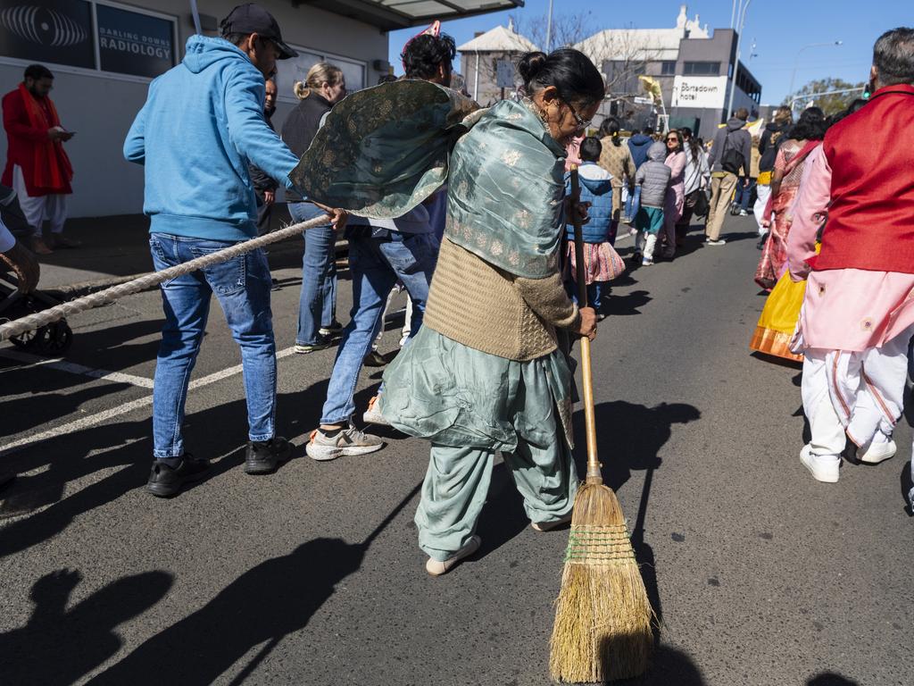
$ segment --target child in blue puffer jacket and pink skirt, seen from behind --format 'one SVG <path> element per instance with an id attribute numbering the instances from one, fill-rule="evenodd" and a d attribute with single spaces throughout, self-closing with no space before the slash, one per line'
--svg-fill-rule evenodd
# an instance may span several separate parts
<path id="1" fill-rule="evenodd" d="M 624 263 L 619 254 L 612 248 L 615 236 L 611 235 L 612 225 L 612 175 L 597 164 L 602 152 L 600 140 L 589 136 L 580 143 L 581 165 L 578 167 L 580 179 L 580 202 L 590 203 L 588 214 L 590 221 L 582 227 L 584 238 L 584 263 L 587 273 L 588 304 L 597 310 L 602 319 L 600 305 L 603 296 L 609 295 L 609 283 L 624 271 Z M 571 177 L 566 176 L 565 192 L 571 193 Z M 574 227 L 567 227 L 569 238 L 569 278 L 566 288 L 569 295 L 577 302 L 577 271 L 574 256 Z"/>

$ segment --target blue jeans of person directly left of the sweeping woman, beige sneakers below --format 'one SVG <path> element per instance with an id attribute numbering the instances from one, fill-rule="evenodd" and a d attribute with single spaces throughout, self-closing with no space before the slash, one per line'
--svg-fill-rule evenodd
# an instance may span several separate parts
<path id="1" fill-rule="evenodd" d="M 362 360 L 383 324 L 384 305 L 398 279 L 412 300 L 410 339 L 419 331 L 425 314 L 431 273 L 438 259 L 439 243 L 434 234 L 391 231 L 387 237 L 372 238 L 370 232 L 369 227 L 348 231 L 353 305 L 336 352 L 322 424 L 345 423 L 356 413 L 353 394 Z"/>

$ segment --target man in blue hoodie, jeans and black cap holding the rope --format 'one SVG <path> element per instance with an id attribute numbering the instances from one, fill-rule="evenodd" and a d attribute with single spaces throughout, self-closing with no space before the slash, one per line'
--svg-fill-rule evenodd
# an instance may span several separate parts
<path id="1" fill-rule="evenodd" d="M 296 55 L 276 20 L 239 5 L 222 38 L 188 38 L 185 59 L 154 80 L 127 134 L 123 154 L 145 166 L 143 212 L 156 270 L 185 263 L 257 235 L 257 201 L 248 172 L 256 165 L 286 188 L 298 158 L 263 118 L 264 80 L 277 59 Z M 190 373 L 216 294 L 241 348 L 248 400 L 245 471 L 265 474 L 290 453 L 273 426 L 276 346 L 270 268 L 257 250 L 162 284 L 165 327 L 155 366 L 152 473 L 146 489 L 173 496 L 209 463 L 184 450 L 181 424 Z"/>

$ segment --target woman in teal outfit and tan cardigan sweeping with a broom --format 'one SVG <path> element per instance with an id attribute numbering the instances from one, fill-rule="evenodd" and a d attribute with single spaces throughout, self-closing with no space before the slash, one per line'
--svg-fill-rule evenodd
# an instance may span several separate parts
<path id="1" fill-rule="evenodd" d="M 570 520 L 578 488 L 558 332 L 594 338 L 596 316 L 561 282 L 565 146 L 603 80 L 573 49 L 528 53 L 518 70 L 528 98 L 496 104 L 453 149 L 425 321 L 384 375 L 385 418 L 431 442 L 416 524 L 433 575 L 479 548 L 496 452 L 537 531 Z"/>

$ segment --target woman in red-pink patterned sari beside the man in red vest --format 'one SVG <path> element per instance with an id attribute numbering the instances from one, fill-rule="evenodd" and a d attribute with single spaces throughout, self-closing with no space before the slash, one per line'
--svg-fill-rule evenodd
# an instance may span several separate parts
<path id="1" fill-rule="evenodd" d="M 778 147 L 778 156 L 771 174 L 771 198 L 764 216 L 773 217 L 770 234 L 761 252 L 759 267 L 755 270 L 755 283 L 766 291 L 787 270 L 787 235 L 791 230 L 791 207 L 800 188 L 803 166 L 813 150 L 822 145 L 828 123 L 818 107 L 803 110 L 800 120 L 793 126 L 790 138 Z M 763 220 L 764 223 L 764 220 Z"/>

